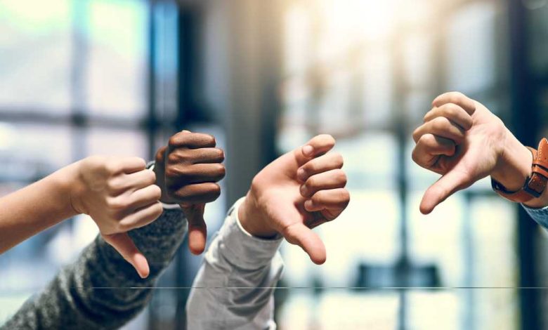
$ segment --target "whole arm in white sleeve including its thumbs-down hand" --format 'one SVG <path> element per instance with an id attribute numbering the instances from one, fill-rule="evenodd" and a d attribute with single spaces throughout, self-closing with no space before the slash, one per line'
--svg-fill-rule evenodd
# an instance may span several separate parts
<path id="1" fill-rule="evenodd" d="M 190 292 L 188 329 L 275 329 L 280 239 L 325 262 L 311 228 L 337 218 L 350 199 L 342 157 L 332 147 L 331 136 L 316 136 L 255 176 L 206 253 Z"/>

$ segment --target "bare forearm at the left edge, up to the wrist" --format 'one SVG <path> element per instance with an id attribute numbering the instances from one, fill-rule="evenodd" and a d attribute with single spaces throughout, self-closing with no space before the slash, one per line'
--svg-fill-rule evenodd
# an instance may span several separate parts
<path id="1" fill-rule="evenodd" d="M 77 214 L 70 191 L 78 163 L 0 199 L 0 253 Z"/>

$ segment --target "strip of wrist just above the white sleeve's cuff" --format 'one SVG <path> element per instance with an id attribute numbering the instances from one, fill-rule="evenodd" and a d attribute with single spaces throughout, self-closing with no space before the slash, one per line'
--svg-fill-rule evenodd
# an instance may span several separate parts
<path id="1" fill-rule="evenodd" d="M 273 230 L 259 211 L 259 205 L 252 193 L 248 192 L 247 196 L 244 198 L 244 201 L 240 205 L 240 208 L 237 210 L 238 218 L 240 219 L 240 225 L 244 228 L 246 232 L 253 235 L 254 237 L 259 237 L 263 239 L 271 239 L 278 235 L 276 230 Z"/>

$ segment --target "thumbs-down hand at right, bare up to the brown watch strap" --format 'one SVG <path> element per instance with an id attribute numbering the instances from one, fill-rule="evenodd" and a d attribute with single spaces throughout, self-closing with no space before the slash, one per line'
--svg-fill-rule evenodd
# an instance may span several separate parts
<path id="1" fill-rule="evenodd" d="M 424 193 L 422 213 L 486 176 L 509 190 L 523 187 L 533 157 L 495 114 L 456 92 L 438 96 L 432 105 L 413 133 L 412 157 L 442 177 Z"/>

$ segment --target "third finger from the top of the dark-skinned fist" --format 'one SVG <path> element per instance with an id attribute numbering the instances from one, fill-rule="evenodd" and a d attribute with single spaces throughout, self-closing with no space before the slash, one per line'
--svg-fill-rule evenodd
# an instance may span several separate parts
<path id="1" fill-rule="evenodd" d="M 175 183 L 214 183 L 225 177 L 226 169 L 223 164 L 194 164 L 171 165 L 167 169 L 169 185 Z"/>

